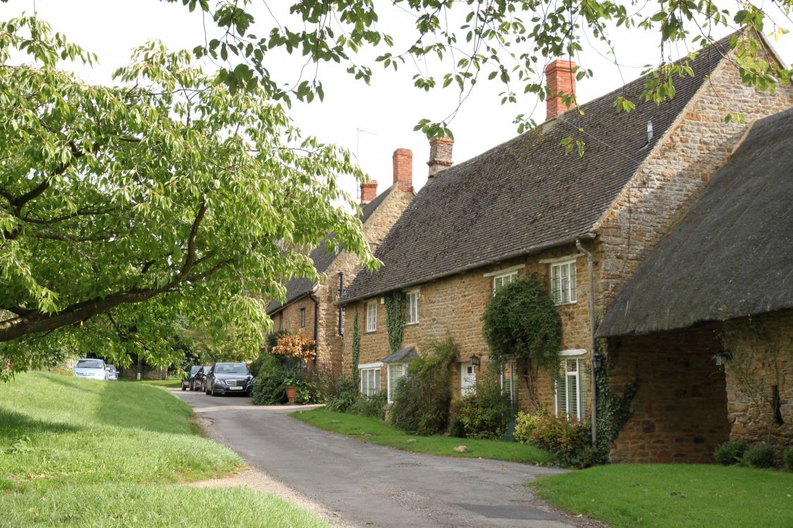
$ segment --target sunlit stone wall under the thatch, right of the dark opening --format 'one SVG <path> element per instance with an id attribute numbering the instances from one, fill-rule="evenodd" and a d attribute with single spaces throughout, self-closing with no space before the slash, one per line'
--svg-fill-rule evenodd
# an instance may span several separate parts
<path id="1" fill-rule="evenodd" d="M 793 310 L 727 321 L 730 439 L 793 446 Z"/>

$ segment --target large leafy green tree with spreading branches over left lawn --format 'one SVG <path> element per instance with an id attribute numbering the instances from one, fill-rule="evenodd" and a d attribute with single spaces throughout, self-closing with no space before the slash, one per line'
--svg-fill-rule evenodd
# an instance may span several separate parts
<path id="1" fill-rule="evenodd" d="M 13 65 L 21 53 L 33 63 Z M 316 278 L 293 248 L 330 231 L 373 264 L 336 182 L 359 169 L 262 90 L 233 92 L 155 42 L 118 87 L 62 59 L 94 57 L 33 17 L 0 25 L 0 358 L 14 369 L 63 348 L 167 363 L 178 316 L 255 342 L 262 299 Z"/>

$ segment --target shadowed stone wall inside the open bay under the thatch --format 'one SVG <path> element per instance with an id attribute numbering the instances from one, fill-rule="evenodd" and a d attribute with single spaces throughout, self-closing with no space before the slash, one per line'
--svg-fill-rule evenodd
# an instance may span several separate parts
<path id="1" fill-rule="evenodd" d="M 713 462 L 730 429 L 721 346 L 713 328 L 608 340 L 612 389 L 638 380 L 611 462 Z"/>

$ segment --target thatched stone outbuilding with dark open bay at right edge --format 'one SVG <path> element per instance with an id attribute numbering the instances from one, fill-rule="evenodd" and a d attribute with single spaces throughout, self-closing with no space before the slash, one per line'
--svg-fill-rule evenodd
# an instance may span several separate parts
<path id="1" fill-rule="evenodd" d="M 793 445 L 793 109 L 756 121 L 611 303 L 612 379 L 638 378 L 615 460 Z"/>

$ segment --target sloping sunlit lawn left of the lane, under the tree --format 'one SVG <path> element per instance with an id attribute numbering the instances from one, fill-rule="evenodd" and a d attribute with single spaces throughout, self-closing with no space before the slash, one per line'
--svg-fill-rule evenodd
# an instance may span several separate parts
<path id="1" fill-rule="evenodd" d="M 145 383 L 29 373 L 0 384 L 0 525 L 328 526 L 247 488 L 182 485 L 243 467 L 192 416 Z"/>

